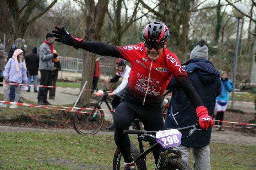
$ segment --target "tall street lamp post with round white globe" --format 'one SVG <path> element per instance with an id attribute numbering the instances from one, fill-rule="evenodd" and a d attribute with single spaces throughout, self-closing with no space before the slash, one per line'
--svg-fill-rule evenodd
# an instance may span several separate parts
<path id="1" fill-rule="evenodd" d="M 242 11 L 243 13 L 247 13 L 247 8 L 244 4 L 236 4 L 236 7 Z M 234 93 L 235 93 L 235 79 L 236 79 L 236 63 L 237 63 L 237 55 L 238 55 L 238 42 L 239 42 L 239 22 L 244 15 L 242 15 L 238 10 L 233 8 L 233 15 L 234 17 L 238 18 L 238 27 L 236 32 L 236 45 L 235 45 L 235 59 L 234 59 L 234 74 L 233 74 L 233 89 L 232 89 L 232 103 L 231 103 L 231 109 L 234 108 Z"/>

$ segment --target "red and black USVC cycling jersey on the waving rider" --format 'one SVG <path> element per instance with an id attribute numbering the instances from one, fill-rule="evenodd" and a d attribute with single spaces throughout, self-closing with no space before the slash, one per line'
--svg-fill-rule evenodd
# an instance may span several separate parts
<path id="1" fill-rule="evenodd" d="M 139 101 L 159 101 L 164 94 L 171 76 L 181 85 L 188 98 L 193 98 L 194 107 L 203 106 L 201 99 L 194 91 L 187 73 L 183 70 L 177 56 L 166 48 L 158 59 L 151 60 L 146 54 L 144 43 L 128 46 L 111 46 L 103 42 L 84 41 L 80 48 L 98 55 L 123 58 L 131 63 L 127 90 Z M 192 100 L 191 100 L 192 101 Z"/>

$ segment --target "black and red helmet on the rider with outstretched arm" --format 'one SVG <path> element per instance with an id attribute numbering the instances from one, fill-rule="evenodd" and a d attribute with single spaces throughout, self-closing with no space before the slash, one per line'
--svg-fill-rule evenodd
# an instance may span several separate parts
<path id="1" fill-rule="evenodd" d="M 151 22 L 143 29 L 142 38 L 145 42 L 164 45 L 169 38 L 169 31 L 165 24 Z"/>

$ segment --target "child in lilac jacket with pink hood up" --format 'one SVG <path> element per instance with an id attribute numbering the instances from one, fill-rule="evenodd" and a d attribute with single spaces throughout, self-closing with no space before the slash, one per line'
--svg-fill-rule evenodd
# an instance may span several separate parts
<path id="1" fill-rule="evenodd" d="M 27 81 L 27 68 L 23 57 L 23 51 L 17 49 L 14 51 L 14 55 L 9 59 L 5 66 L 5 82 L 6 83 L 18 83 L 24 84 Z M 4 101 L 8 99 L 8 91 L 11 86 L 15 86 L 15 100 L 18 102 L 20 99 L 20 85 L 6 84 L 4 87 Z M 7 107 L 6 103 L 0 103 L 0 107 Z M 11 104 L 10 108 L 18 108 L 17 104 Z"/>

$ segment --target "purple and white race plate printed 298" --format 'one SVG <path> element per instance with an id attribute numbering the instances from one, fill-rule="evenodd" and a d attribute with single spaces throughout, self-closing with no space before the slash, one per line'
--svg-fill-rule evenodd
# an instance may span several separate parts
<path id="1" fill-rule="evenodd" d="M 157 142 L 163 148 L 169 148 L 172 146 L 180 145 L 181 143 L 181 132 L 177 129 L 162 130 L 156 132 Z"/>

